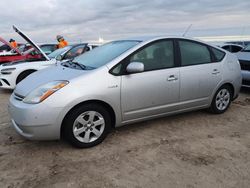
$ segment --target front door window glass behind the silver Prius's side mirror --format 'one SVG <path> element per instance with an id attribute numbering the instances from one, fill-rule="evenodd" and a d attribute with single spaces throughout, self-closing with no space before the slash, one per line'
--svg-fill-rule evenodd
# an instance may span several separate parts
<path id="1" fill-rule="evenodd" d="M 131 62 L 143 63 L 145 71 L 174 67 L 173 41 L 155 42 L 130 56 Z"/>

